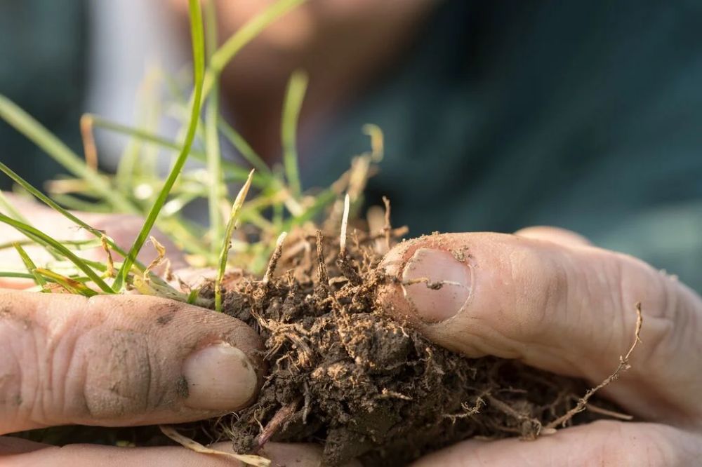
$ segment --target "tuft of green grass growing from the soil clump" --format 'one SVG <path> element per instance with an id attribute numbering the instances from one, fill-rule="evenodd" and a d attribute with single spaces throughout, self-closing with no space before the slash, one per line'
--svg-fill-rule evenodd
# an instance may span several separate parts
<path id="1" fill-rule="evenodd" d="M 185 252 L 192 266 L 216 269 L 213 305 L 219 310 L 222 305 L 220 285 L 227 267 L 238 265 L 253 273 L 263 273 L 271 252 L 280 248 L 285 232 L 319 218 L 335 202 L 340 203 L 345 191 L 357 192 L 358 180 L 367 175 L 369 164 L 379 160 L 378 154 L 382 157 L 382 133 L 373 126 L 364 128 L 371 135 L 371 153 L 357 157 L 355 161 L 362 162 L 352 165 L 333 186 L 312 192 L 305 191 L 300 182 L 297 134 L 307 89 L 305 72 L 293 73 L 286 89 L 280 128 L 282 166 L 269 167 L 220 111 L 218 81 L 225 67 L 265 27 L 304 2 L 274 2 L 218 47 L 213 2 L 203 2 L 203 18 L 201 2 L 189 0 L 192 81 L 162 70 L 147 73 L 138 95 L 138 127 L 85 114 L 80 122 L 84 158 L 0 95 L 0 119 L 58 161 L 69 175 L 46 184 L 48 194 L 44 194 L 4 163 L 0 163 L 0 172 L 15 182 L 18 191 L 36 198 L 95 237 L 85 241 L 56 240 L 32 226 L 0 193 L 0 210 L 4 212 L 0 214 L 0 222 L 13 226 L 27 237 L 0 245 L 0 249 L 15 248 L 27 272 L 0 266 L 0 277 L 25 278 L 33 280 L 44 291 L 61 287 L 88 297 L 136 287 L 143 293 L 204 304 L 197 290 L 183 294 L 152 273 L 151 265 L 138 262 L 140 250 L 157 227 Z M 161 85 L 168 89 L 168 97 L 160 92 Z M 157 133 L 158 123 L 164 118 L 175 118 L 180 123 L 182 137 L 171 140 Z M 100 140 L 95 140 L 95 130 L 126 138 L 114 175 L 98 168 Z M 220 144 L 223 140 L 229 142 L 249 166 L 223 158 Z M 159 160 L 164 158 L 170 158 L 171 167 L 162 176 L 158 167 Z M 227 184 L 241 182 L 244 187 L 232 202 Z M 247 200 L 250 189 L 256 194 Z M 352 203 L 356 198 L 352 196 Z M 206 222 L 194 222 L 185 214 L 187 207 L 196 203 L 206 203 L 207 219 L 201 219 Z M 140 215 L 145 222 L 130 248 L 125 248 L 126 245 L 117 245 L 104 232 L 68 209 Z M 245 237 L 236 232 L 237 225 L 242 223 L 247 224 Z M 53 260 L 35 264 L 25 249 L 29 245 L 46 248 Z M 84 251 L 94 248 L 105 250 L 109 258 L 107 264 L 84 257 Z M 113 262 L 112 253 L 124 260 Z M 164 252 L 159 251 L 159 257 L 162 255 Z"/>

